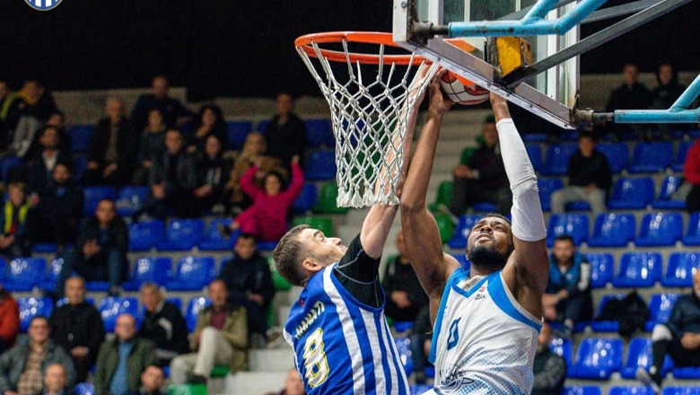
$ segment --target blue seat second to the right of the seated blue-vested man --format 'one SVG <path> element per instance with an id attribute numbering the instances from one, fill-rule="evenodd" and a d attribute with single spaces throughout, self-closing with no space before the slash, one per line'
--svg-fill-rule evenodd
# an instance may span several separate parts
<path id="1" fill-rule="evenodd" d="M 616 288 L 649 288 L 661 278 L 661 254 L 658 252 L 626 252 L 612 285 Z"/>

